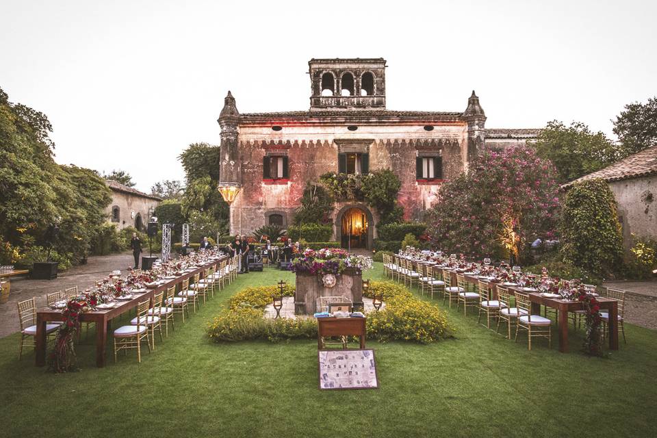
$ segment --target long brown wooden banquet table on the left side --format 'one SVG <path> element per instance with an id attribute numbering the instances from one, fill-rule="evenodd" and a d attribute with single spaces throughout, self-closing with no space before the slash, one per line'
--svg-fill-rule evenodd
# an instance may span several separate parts
<path id="1" fill-rule="evenodd" d="M 80 315 L 81 322 L 94 322 L 96 323 L 96 366 L 103 368 L 105 366 L 105 350 L 107 348 L 107 331 L 110 329 L 112 320 L 130 309 L 137 307 L 139 302 L 143 302 L 148 298 L 151 300 L 151 307 L 153 307 L 153 296 L 159 292 L 166 291 L 171 286 L 179 285 L 186 279 L 193 277 L 196 274 L 201 274 L 203 278 L 203 271 L 212 266 L 218 266 L 221 261 L 228 259 L 227 256 L 220 259 L 205 263 L 205 265 L 195 268 L 193 271 L 185 272 L 181 276 L 176 277 L 162 285 L 155 287 L 155 289 L 148 289 L 142 294 L 133 294 L 133 298 L 129 301 L 118 301 L 118 305 L 107 310 L 94 310 L 82 313 Z M 62 311 L 59 309 L 42 309 L 36 312 L 36 366 L 42 367 L 46 364 L 46 323 L 50 321 L 64 321 Z"/>

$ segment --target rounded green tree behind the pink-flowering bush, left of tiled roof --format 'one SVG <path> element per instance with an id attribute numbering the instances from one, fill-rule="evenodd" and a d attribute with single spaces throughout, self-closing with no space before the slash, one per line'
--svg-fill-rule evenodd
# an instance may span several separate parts
<path id="1" fill-rule="evenodd" d="M 579 122 L 565 126 L 553 120 L 541 130 L 534 146 L 539 157 L 554 164 L 560 183 L 600 170 L 624 156 L 623 148 L 613 144 L 604 133 L 594 133 Z"/>

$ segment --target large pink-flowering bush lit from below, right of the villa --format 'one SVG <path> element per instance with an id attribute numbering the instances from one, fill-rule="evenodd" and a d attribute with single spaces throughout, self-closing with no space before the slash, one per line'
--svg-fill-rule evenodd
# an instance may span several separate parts
<path id="1" fill-rule="evenodd" d="M 537 238 L 554 238 L 556 170 L 529 146 L 485 151 L 467 173 L 443 184 L 428 214 L 434 248 L 519 257 Z"/>

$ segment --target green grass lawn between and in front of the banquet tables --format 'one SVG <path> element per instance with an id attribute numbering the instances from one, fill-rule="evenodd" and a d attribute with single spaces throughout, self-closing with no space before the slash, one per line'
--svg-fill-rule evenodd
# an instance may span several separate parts
<path id="1" fill-rule="evenodd" d="M 381 279 L 381 263 L 368 274 Z M 281 279 L 294 276 L 239 276 L 140 365 L 135 355 L 114 364 L 108 350 L 108 366 L 95 368 L 90 333 L 81 372 L 55 375 L 34 367 L 32 352 L 18 361 L 17 335 L 0 339 L 2 436 L 657 436 L 656 331 L 627 325 L 628 344 L 597 359 L 578 352 L 575 332 L 568 354 L 556 337 L 530 352 L 525 337 L 514 344 L 452 310 L 455 339 L 368 344 L 379 389 L 320 391 L 314 341 L 205 337 L 231 294 Z"/>

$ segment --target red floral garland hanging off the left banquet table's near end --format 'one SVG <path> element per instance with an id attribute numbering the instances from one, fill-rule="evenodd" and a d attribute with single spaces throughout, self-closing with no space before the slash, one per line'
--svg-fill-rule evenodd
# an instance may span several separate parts
<path id="1" fill-rule="evenodd" d="M 49 370 L 57 373 L 77 371 L 73 340 L 80 329 L 80 315 L 88 311 L 90 305 L 86 297 L 72 298 L 66 303 L 62 310 L 64 323 L 57 330 L 55 346 L 48 357 Z"/>

